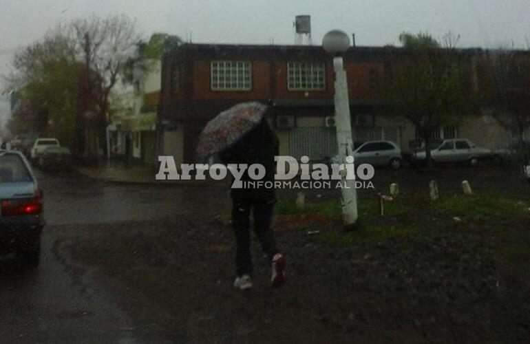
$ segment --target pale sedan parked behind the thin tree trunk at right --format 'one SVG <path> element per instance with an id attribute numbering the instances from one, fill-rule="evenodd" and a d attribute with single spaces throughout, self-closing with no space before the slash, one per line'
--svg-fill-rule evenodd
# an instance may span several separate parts
<path id="1" fill-rule="evenodd" d="M 438 140 L 430 144 L 432 161 L 438 164 L 469 163 L 476 166 L 480 160 L 490 159 L 494 154 L 489 149 L 479 148 L 465 138 Z M 425 160 L 425 149 L 418 149 L 411 156 L 413 163 Z"/>

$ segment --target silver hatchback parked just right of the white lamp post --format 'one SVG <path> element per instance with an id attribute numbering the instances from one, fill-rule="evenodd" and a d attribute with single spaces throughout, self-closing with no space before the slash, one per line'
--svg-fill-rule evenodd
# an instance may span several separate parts
<path id="1" fill-rule="evenodd" d="M 392 141 L 367 141 L 353 152 L 355 164 L 371 164 L 372 166 L 390 166 L 400 169 L 402 165 L 401 149 Z M 326 164 L 338 164 L 337 155 L 327 158 Z"/>

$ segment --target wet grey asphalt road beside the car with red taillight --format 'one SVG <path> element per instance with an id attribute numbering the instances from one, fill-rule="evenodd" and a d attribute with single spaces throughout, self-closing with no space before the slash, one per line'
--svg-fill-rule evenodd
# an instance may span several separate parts
<path id="1" fill-rule="evenodd" d="M 116 297 L 98 286 L 90 271 L 76 272 L 59 246 L 65 237 L 82 234 L 76 225 L 178 217 L 190 210 L 213 215 L 226 206 L 225 189 L 105 184 L 76 173 L 36 175 L 47 219 L 41 265 L 24 270 L 14 256 L 0 258 L 0 343 L 165 343 L 153 329 L 149 341 L 142 340 L 145 331 L 134 327 Z M 193 194 L 200 197 L 189 197 Z"/>

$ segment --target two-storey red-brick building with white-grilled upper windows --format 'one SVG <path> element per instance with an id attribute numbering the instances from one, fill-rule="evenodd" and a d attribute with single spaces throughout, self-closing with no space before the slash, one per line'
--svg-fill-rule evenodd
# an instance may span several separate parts
<path id="1" fill-rule="evenodd" d="M 471 61 L 480 49 L 466 50 Z M 344 54 L 354 141 L 392 140 L 403 150 L 416 128 L 386 111 L 386 96 L 405 50 L 352 47 Z M 177 164 L 195 161 L 200 131 L 220 111 L 257 100 L 271 106 L 280 153 L 320 160 L 336 151 L 332 56 L 319 46 L 183 44 L 162 60 L 158 153 Z M 509 134 L 489 116 L 471 116 L 433 132 L 433 138 L 469 138 L 485 147 Z"/>

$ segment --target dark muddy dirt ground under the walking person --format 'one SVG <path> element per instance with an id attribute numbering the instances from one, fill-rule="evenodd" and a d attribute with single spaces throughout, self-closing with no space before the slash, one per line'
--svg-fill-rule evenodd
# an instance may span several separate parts
<path id="1" fill-rule="evenodd" d="M 530 203 L 403 197 L 383 218 L 363 209 L 357 233 L 318 204 L 279 211 L 278 290 L 257 245 L 254 290 L 233 288 L 222 216 L 87 226 L 57 245 L 176 343 L 529 343 Z"/>

